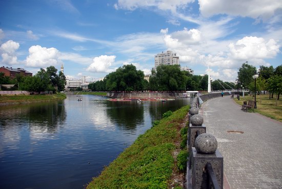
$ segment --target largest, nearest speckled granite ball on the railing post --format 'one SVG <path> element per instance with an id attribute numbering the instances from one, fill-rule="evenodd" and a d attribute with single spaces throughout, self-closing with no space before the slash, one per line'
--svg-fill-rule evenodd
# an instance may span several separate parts
<path id="1" fill-rule="evenodd" d="M 194 142 L 198 153 L 213 154 L 217 149 L 217 141 L 212 134 L 200 134 Z"/>

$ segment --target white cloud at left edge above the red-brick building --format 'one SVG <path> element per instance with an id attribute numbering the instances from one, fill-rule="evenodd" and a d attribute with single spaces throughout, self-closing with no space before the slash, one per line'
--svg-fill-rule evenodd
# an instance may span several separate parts
<path id="1" fill-rule="evenodd" d="M 0 46 L 0 50 L 2 51 L 2 62 L 12 65 L 17 63 L 17 56 L 15 51 L 19 48 L 19 43 L 16 43 L 12 40 L 3 43 Z"/>

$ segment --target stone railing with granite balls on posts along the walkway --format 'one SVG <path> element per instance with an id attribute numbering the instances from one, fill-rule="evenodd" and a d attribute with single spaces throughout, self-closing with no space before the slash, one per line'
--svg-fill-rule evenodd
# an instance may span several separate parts
<path id="1" fill-rule="evenodd" d="M 187 148 L 187 188 L 221 188 L 223 189 L 223 156 L 217 149 L 217 141 L 206 133 L 204 119 L 198 114 L 199 106 L 205 100 L 221 97 L 221 94 L 207 94 L 195 97 L 189 110 L 189 131 Z"/>

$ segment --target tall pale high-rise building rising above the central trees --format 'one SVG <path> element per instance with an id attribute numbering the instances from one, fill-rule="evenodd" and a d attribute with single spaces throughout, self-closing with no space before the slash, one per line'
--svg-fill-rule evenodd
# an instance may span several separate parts
<path id="1" fill-rule="evenodd" d="M 170 50 L 167 50 L 167 52 L 158 53 L 155 55 L 155 67 L 156 68 L 159 65 L 179 65 L 179 56 L 176 55 L 175 52 L 172 52 Z"/>

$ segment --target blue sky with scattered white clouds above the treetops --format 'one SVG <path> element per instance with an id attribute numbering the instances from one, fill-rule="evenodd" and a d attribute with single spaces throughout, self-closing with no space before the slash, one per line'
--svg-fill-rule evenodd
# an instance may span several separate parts
<path id="1" fill-rule="evenodd" d="M 282 64 L 281 0 L 0 0 L 0 66 L 103 79 L 123 65 L 145 74 L 171 50 L 180 66 L 234 82 L 248 62 Z"/>

